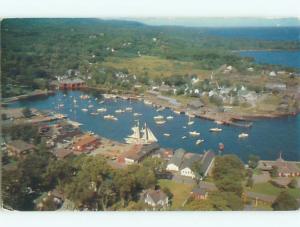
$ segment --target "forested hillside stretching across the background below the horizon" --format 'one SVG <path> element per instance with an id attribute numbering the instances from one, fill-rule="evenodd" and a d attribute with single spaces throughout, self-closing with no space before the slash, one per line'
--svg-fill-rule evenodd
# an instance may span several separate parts
<path id="1" fill-rule="evenodd" d="M 3 96 L 22 93 L 13 86 L 46 87 L 68 69 L 83 73 L 90 63 L 110 56 L 157 56 L 214 69 L 224 63 L 242 65 L 230 50 L 300 49 L 295 41 L 226 39 L 201 28 L 100 19 L 4 19 L 1 36 Z"/>

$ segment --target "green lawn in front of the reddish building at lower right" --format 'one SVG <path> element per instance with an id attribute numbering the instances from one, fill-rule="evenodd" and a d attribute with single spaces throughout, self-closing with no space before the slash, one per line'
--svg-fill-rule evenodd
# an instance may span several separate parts
<path id="1" fill-rule="evenodd" d="M 283 190 L 287 190 L 295 198 L 300 198 L 300 189 L 299 188 L 297 188 L 297 189 L 294 189 L 294 188 L 282 189 L 282 188 L 278 188 L 278 187 L 272 185 L 269 182 L 255 184 L 250 191 L 262 193 L 262 194 L 266 194 L 266 195 L 277 196 Z"/>

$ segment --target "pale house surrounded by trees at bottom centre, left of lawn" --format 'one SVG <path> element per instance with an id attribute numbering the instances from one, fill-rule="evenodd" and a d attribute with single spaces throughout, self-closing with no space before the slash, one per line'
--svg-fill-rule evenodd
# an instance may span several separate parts
<path id="1" fill-rule="evenodd" d="M 141 198 L 153 208 L 166 208 L 169 205 L 168 196 L 161 190 L 148 189 L 142 193 Z"/>

